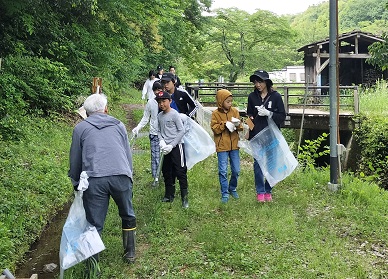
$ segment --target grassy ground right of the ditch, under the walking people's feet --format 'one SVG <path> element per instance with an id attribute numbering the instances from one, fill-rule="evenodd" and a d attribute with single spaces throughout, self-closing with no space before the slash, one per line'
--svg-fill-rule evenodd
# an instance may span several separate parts
<path id="1" fill-rule="evenodd" d="M 136 145 L 147 142 L 145 137 Z M 241 155 L 239 200 L 220 203 L 213 155 L 189 172 L 190 208 L 183 210 L 179 199 L 160 202 L 164 186 L 150 186 L 149 155 L 136 153 L 138 260 L 131 267 L 121 261 L 120 220 L 112 203 L 102 277 L 388 278 L 387 192 L 346 175 L 341 190 L 332 193 L 328 170 L 298 170 L 275 187 L 273 203 L 258 204 L 251 158 Z M 82 269 L 70 269 L 66 278 L 79 278 Z"/>

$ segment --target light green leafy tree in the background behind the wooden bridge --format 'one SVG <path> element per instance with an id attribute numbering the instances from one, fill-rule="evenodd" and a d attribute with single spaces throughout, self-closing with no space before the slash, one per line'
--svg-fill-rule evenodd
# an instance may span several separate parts
<path id="1" fill-rule="evenodd" d="M 268 11 L 253 15 L 236 9 L 220 9 L 207 31 L 203 61 L 206 77 L 218 75 L 235 82 L 254 70 L 276 69 L 297 58 L 288 23 Z M 208 65 L 205 64 L 208 63 Z"/>

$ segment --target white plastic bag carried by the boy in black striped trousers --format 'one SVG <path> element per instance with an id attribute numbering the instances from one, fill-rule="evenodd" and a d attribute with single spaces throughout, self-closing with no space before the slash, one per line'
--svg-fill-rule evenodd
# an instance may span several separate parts
<path id="1" fill-rule="evenodd" d="M 183 136 L 186 166 L 191 169 L 196 163 L 205 160 L 216 152 L 213 139 L 197 122 L 185 114 L 180 114 L 185 127 Z"/>

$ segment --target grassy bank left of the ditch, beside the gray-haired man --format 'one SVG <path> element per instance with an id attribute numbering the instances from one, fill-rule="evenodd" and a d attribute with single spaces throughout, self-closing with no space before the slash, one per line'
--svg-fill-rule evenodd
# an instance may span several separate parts
<path id="1" fill-rule="evenodd" d="M 0 140 L 0 266 L 12 270 L 70 198 L 71 127 L 25 117 L 19 142 Z"/>

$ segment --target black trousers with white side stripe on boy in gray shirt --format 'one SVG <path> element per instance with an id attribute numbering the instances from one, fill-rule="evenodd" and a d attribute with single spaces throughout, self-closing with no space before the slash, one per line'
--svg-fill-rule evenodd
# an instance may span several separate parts
<path id="1" fill-rule="evenodd" d="M 187 167 L 183 143 L 175 146 L 170 153 L 164 155 L 162 173 L 166 187 L 165 197 L 175 197 L 175 178 L 179 181 L 182 198 L 187 195 Z"/>

